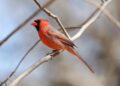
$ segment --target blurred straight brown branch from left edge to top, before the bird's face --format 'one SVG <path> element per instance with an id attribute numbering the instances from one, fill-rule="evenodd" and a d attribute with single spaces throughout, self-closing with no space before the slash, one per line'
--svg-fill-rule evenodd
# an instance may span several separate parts
<path id="1" fill-rule="evenodd" d="M 43 7 L 48 7 L 51 5 L 55 0 L 50 0 L 47 2 Z M 39 12 L 41 12 L 41 9 L 37 9 L 30 17 L 28 17 L 25 21 L 23 21 L 17 28 L 15 28 L 8 36 L 6 36 L 2 41 L 0 41 L 0 46 L 4 44 L 12 35 L 14 35 L 16 32 L 18 32 L 23 26 L 25 26 L 33 17 L 35 17 Z"/>

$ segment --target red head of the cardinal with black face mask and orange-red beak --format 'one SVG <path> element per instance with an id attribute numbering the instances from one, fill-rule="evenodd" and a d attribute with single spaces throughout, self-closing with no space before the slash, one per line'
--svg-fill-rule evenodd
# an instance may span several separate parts
<path id="1" fill-rule="evenodd" d="M 32 22 L 32 25 L 36 28 L 37 31 L 44 29 L 48 26 L 48 20 L 45 19 L 36 19 Z"/>

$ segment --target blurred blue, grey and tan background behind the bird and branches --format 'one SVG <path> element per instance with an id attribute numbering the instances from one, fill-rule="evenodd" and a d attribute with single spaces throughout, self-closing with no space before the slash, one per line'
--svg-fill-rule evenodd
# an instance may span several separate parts
<path id="1" fill-rule="evenodd" d="M 96 9 L 86 0 L 38 1 L 42 6 L 49 3 L 47 8 L 60 18 L 65 27 L 81 25 Z M 101 3 L 100 0 L 95 1 Z M 119 3 L 119 0 L 113 0 L 106 7 L 118 20 L 120 20 Z M 2 41 L 38 9 L 33 0 L 2 0 L 0 40 Z M 31 22 L 36 18 L 48 19 L 56 29 L 59 28 L 54 19 L 43 11 L 38 11 L 35 17 L 0 46 L 0 82 L 6 79 L 22 56 L 39 40 L 36 29 L 31 26 Z M 79 29 L 70 29 L 68 32 L 73 36 Z M 102 13 L 84 34 L 74 41 L 78 46 L 76 49 L 91 65 L 95 74 L 91 74 L 81 61 L 65 51 L 37 68 L 19 86 L 120 86 L 119 29 Z M 35 46 L 8 83 L 48 52 L 51 52 L 51 49 L 42 43 Z"/>

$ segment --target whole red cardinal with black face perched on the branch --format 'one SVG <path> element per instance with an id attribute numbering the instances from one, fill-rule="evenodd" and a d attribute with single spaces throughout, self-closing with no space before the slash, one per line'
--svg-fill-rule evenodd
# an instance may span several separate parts
<path id="1" fill-rule="evenodd" d="M 71 54 L 77 56 L 87 67 L 94 73 L 92 68 L 81 58 L 74 49 L 75 44 L 69 40 L 64 34 L 56 31 L 45 19 L 37 19 L 32 22 L 37 29 L 41 41 L 54 50 L 67 50 Z"/>

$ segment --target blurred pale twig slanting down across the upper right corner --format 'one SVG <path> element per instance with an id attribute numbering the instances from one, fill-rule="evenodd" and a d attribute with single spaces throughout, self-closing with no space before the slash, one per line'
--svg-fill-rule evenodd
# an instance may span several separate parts
<path id="1" fill-rule="evenodd" d="M 120 22 L 115 17 L 113 17 L 109 13 L 109 11 L 107 11 L 106 9 L 101 9 L 100 5 L 97 4 L 95 1 L 92 1 L 92 0 L 87 0 L 87 1 L 89 1 L 90 3 L 92 3 L 93 5 L 95 5 L 96 7 L 98 7 L 120 29 Z M 112 1 L 112 0 L 108 0 L 108 1 Z M 106 2 L 108 2 L 108 1 L 106 1 Z"/>

